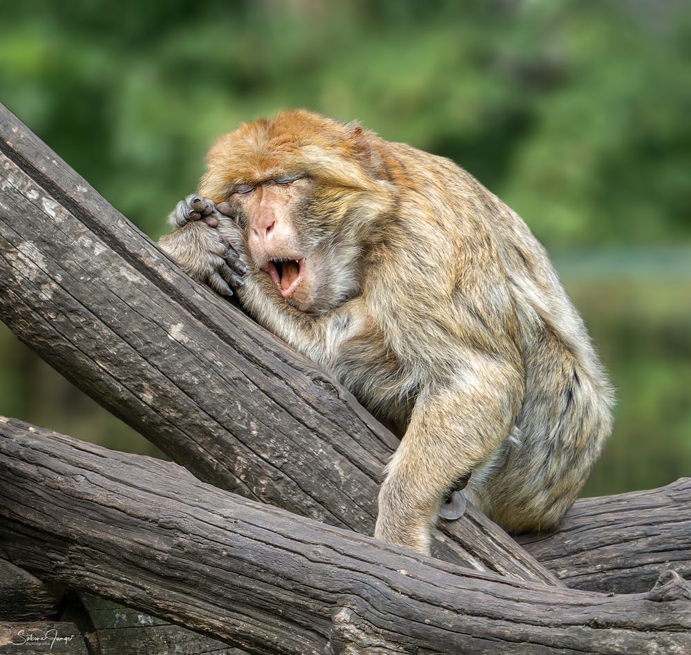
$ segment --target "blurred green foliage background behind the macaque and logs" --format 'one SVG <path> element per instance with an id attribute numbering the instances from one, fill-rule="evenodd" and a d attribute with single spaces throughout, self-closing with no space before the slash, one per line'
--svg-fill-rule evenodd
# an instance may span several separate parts
<path id="1" fill-rule="evenodd" d="M 688 3 L 1 3 L 0 100 L 153 239 L 214 137 L 279 108 L 453 158 L 545 244 L 618 389 L 585 495 L 691 474 Z M 0 413 L 155 453 L 1 325 Z"/>

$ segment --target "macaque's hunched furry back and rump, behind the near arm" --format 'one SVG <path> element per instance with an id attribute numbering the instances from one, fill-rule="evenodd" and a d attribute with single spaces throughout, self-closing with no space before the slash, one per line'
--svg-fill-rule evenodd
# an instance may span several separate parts
<path id="1" fill-rule="evenodd" d="M 411 162 L 411 202 L 424 206 L 419 216 L 433 217 L 422 231 L 433 231 L 437 242 L 443 235 L 453 251 L 457 267 L 446 260 L 448 285 L 475 305 L 470 311 L 488 330 L 501 332 L 498 341 L 514 339 L 520 350 L 525 391 L 518 417 L 473 472 L 468 495 L 511 532 L 549 529 L 574 502 L 611 431 L 614 395 L 605 371 L 545 249 L 518 214 L 453 162 L 405 144 L 390 147 Z M 471 260 L 489 281 L 484 298 L 464 294 Z M 502 303 L 507 295 L 512 311 L 504 312 L 506 329 L 499 331 L 482 303 Z M 457 336 L 463 339 L 464 330 Z"/>

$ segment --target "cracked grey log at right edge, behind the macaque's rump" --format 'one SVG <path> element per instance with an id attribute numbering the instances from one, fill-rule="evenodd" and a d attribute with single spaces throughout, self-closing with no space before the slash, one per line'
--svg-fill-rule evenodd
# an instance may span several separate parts
<path id="1" fill-rule="evenodd" d="M 691 576 L 691 478 L 574 504 L 556 533 L 518 542 L 567 586 L 630 594 L 660 571 Z"/>

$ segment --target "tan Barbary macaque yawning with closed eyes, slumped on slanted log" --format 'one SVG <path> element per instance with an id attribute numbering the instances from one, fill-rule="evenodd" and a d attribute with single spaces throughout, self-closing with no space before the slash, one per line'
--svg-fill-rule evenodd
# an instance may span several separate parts
<path id="1" fill-rule="evenodd" d="M 450 160 L 303 110 L 240 125 L 207 165 L 160 246 L 397 427 L 375 536 L 428 553 L 468 475 L 504 529 L 556 526 L 613 395 L 520 217 Z"/>

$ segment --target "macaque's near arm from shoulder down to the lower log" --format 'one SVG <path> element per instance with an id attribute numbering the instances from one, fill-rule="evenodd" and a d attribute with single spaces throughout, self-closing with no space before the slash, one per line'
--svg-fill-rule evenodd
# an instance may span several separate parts
<path id="1" fill-rule="evenodd" d="M 433 252 L 427 236 L 417 247 Z M 481 248 L 437 251 L 418 269 L 415 247 L 403 241 L 393 262 L 398 275 L 375 272 L 366 289 L 370 316 L 389 317 L 382 330 L 410 371 L 406 386 L 417 390 L 381 488 L 375 535 L 421 552 L 451 489 L 491 463 L 511 435 L 525 388 L 515 307 L 498 258 Z"/>

